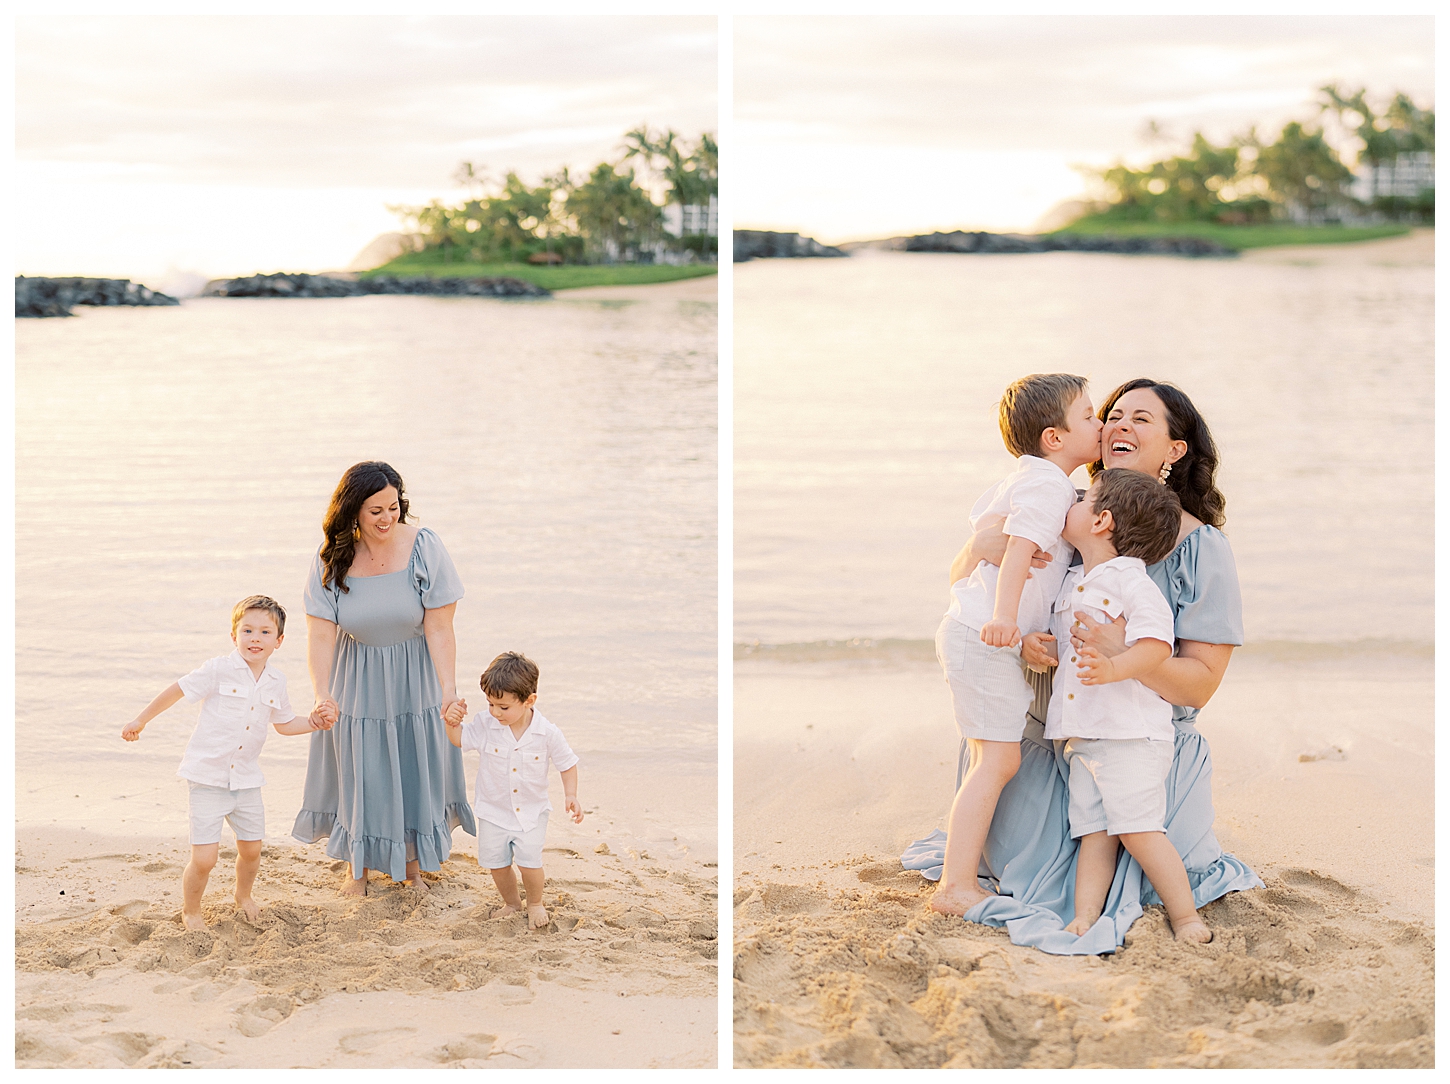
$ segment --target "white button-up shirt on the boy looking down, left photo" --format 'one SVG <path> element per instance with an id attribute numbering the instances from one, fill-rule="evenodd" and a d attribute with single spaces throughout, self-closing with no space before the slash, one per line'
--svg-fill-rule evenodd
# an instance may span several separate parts
<path id="1" fill-rule="evenodd" d="M 568 771 L 579 756 L 563 732 L 535 707 L 523 736 L 487 712 L 463 725 L 463 748 L 478 751 L 473 812 L 508 832 L 528 832 L 554 809 L 548 801 L 548 765 Z"/>

